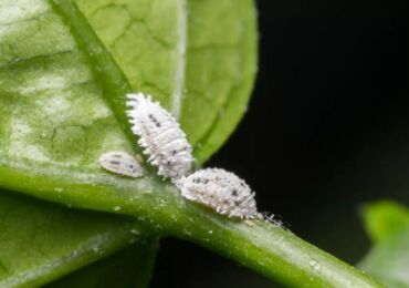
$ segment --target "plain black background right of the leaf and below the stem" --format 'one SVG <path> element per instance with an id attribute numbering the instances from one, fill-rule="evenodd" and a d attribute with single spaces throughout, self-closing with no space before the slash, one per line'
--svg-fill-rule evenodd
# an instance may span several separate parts
<path id="1" fill-rule="evenodd" d="M 255 91 L 208 163 L 237 172 L 262 210 L 350 264 L 369 248 L 361 205 L 409 205 L 406 2 L 259 1 Z M 151 287 L 274 287 L 191 244 L 161 246 Z"/>

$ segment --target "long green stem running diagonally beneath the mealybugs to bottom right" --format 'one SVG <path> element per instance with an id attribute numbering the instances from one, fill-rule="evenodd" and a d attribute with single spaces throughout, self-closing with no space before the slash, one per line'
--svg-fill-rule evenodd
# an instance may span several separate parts
<path id="1" fill-rule="evenodd" d="M 282 227 L 220 216 L 185 200 L 172 185 L 155 178 L 133 181 L 64 167 L 33 169 L 21 163 L 15 168 L 0 165 L 0 174 L 1 186 L 80 208 L 133 216 L 160 236 L 193 241 L 284 285 L 381 287 Z M 39 186 L 41 191 L 32 188 Z"/>

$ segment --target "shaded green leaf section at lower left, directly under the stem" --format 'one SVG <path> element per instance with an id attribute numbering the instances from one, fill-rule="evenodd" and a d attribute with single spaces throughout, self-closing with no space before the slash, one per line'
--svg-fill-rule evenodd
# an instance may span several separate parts
<path id="1" fill-rule="evenodd" d="M 4 191 L 0 194 L 0 287 L 43 285 L 129 243 L 135 243 L 136 264 L 155 256 L 145 244 L 145 230 L 132 219 L 80 212 Z M 135 272 L 146 270 L 134 268 Z"/>

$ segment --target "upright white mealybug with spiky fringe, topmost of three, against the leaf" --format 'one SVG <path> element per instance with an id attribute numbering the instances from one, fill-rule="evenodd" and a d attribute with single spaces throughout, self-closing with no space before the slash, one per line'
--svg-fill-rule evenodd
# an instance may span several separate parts
<path id="1" fill-rule="evenodd" d="M 127 94 L 127 111 L 133 133 L 148 155 L 148 162 L 158 167 L 158 174 L 177 179 L 190 172 L 193 157 L 191 146 L 179 123 L 150 95 Z"/>

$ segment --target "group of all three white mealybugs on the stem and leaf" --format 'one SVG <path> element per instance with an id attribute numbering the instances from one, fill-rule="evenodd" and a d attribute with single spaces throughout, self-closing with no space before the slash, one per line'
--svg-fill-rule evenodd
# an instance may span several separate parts
<path id="1" fill-rule="evenodd" d="M 126 114 L 133 133 L 138 137 L 148 163 L 158 175 L 168 177 L 181 196 L 234 218 L 259 217 L 254 193 L 233 173 L 221 168 L 204 168 L 190 173 L 192 148 L 176 119 L 150 95 L 127 94 Z M 108 152 L 101 156 L 103 168 L 129 177 L 143 176 L 140 163 L 125 152 Z"/>

